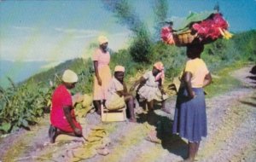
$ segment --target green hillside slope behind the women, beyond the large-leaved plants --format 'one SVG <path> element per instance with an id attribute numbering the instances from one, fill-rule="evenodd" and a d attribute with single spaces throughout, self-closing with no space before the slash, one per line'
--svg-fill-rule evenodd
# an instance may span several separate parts
<path id="1" fill-rule="evenodd" d="M 256 30 L 236 33 L 230 40 L 219 39 L 206 45 L 202 58 L 213 73 L 217 73 L 224 67 L 236 64 L 236 62 L 256 61 Z M 111 51 L 110 67 L 123 65 L 126 68 L 126 79 L 134 77 L 137 71 L 144 71 L 151 68 L 154 61 L 163 61 L 166 69 L 166 78 L 172 80 L 183 68 L 186 59 L 185 48 L 169 46 L 161 42 L 153 44 L 149 62 L 133 61 L 129 49 L 122 49 L 118 52 Z M 93 65 L 90 59 L 74 59 L 65 61 L 60 65 L 50 68 L 46 72 L 40 72 L 31 78 L 29 82 L 42 82 L 49 85 L 49 80 L 58 81 L 58 77 L 65 69 L 71 69 L 79 74 L 80 82 L 74 91 L 90 93 L 92 84 Z M 81 85 L 83 84 L 83 86 Z M 84 87 L 85 86 L 85 87 Z"/>

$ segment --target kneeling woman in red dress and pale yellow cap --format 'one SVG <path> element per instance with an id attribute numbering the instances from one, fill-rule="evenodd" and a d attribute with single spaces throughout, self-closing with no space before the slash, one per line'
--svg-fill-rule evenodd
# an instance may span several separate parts
<path id="1" fill-rule="evenodd" d="M 62 84 L 52 95 L 52 108 L 50 111 L 49 139 L 54 143 L 56 136 L 61 134 L 82 137 L 82 127 L 75 119 L 74 101 L 69 90 L 78 82 L 78 75 L 66 70 L 62 75 Z"/>

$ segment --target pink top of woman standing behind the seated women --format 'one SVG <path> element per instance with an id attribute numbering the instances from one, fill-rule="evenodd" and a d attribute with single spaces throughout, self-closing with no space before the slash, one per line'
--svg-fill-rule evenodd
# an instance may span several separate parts
<path id="1" fill-rule="evenodd" d="M 110 61 L 109 52 L 103 53 L 102 49 L 96 49 L 94 55 L 92 55 L 92 61 L 98 61 L 98 68 L 108 66 Z"/>

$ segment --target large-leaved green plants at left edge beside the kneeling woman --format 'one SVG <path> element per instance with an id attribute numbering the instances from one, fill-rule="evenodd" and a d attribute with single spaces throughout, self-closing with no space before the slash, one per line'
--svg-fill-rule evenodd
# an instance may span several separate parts
<path id="1" fill-rule="evenodd" d="M 54 89 L 43 88 L 41 84 L 12 84 L 7 90 L 1 88 L 0 91 L 0 133 L 19 127 L 29 129 L 29 124 L 36 124 L 37 118 L 44 115 L 44 108 Z"/>

